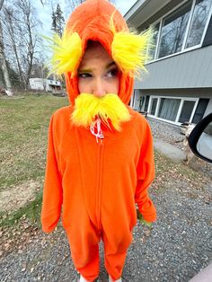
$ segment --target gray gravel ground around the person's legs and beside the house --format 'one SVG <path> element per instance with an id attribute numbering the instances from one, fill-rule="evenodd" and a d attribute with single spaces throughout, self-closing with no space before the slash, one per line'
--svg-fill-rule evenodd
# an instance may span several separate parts
<path id="1" fill-rule="evenodd" d="M 154 137 L 172 144 L 181 137 L 176 128 L 149 122 Z M 212 260 L 212 181 L 202 173 L 194 174 L 195 180 L 190 181 L 186 174 L 179 174 L 177 165 L 183 164 L 167 165 L 170 170 L 164 177 L 158 177 L 150 189 L 158 219 L 150 228 L 140 222 L 134 228 L 134 242 L 128 249 L 123 281 L 187 282 Z M 102 244 L 100 250 L 98 280 L 108 281 Z M 5 253 L 0 263 L 0 277 L 1 282 L 76 282 L 79 276 L 62 227 L 58 226 L 52 234 L 39 231 L 32 242 L 24 244 L 22 251 L 14 248 Z"/>

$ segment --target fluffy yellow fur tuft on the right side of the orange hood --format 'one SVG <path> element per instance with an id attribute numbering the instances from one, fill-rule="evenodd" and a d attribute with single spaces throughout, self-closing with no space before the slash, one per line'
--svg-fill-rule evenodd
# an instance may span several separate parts
<path id="1" fill-rule="evenodd" d="M 140 34 L 136 32 L 116 32 L 110 19 L 110 30 L 114 34 L 111 55 L 123 73 L 139 78 L 140 72 L 146 71 L 147 48 L 152 47 L 152 28 Z"/>

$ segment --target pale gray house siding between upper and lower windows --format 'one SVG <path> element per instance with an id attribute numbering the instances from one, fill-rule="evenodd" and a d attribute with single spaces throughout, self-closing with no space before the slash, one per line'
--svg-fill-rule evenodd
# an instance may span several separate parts
<path id="1" fill-rule="evenodd" d="M 198 48 L 146 65 L 148 74 L 135 89 L 212 87 L 212 46 Z"/>

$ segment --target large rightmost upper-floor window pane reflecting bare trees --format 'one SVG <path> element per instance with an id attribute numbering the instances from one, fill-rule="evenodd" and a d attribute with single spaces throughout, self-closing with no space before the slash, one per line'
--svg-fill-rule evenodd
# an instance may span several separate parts
<path id="1" fill-rule="evenodd" d="M 199 45 L 202 39 L 202 34 L 208 19 L 208 13 L 211 8 L 211 0 L 197 0 L 190 24 L 189 36 L 186 43 L 186 48 L 194 45 Z"/>

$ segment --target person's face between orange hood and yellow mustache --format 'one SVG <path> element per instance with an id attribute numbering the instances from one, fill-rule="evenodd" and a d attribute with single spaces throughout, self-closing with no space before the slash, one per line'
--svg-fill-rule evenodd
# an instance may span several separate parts
<path id="1" fill-rule="evenodd" d="M 102 97 L 119 93 L 119 69 L 99 42 L 87 48 L 78 68 L 80 93 Z"/>

